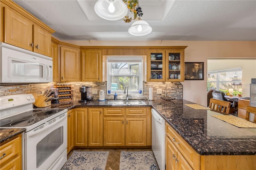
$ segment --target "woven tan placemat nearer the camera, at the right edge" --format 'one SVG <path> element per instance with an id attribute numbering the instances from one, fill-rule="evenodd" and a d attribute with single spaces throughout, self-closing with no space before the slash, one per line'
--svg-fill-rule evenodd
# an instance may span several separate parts
<path id="1" fill-rule="evenodd" d="M 256 123 L 246 121 L 245 119 L 242 119 L 240 117 L 235 117 L 231 115 L 211 115 L 211 116 L 239 128 L 256 128 Z"/>

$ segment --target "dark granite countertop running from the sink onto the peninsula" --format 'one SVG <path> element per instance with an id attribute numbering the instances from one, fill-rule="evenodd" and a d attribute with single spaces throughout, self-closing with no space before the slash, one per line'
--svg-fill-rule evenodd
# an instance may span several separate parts
<path id="1" fill-rule="evenodd" d="M 256 128 L 235 127 L 210 116 L 220 113 L 192 109 L 184 104 L 194 103 L 182 99 L 173 101 L 158 99 L 144 102 L 145 105 L 130 106 L 154 107 L 174 130 L 201 155 L 256 155 Z M 79 103 L 71 100 L 53 104 L 51 107 L 72 109 L 74 107 L 112 106 L 107 103 L 108 101 L 96 100 Z"/>

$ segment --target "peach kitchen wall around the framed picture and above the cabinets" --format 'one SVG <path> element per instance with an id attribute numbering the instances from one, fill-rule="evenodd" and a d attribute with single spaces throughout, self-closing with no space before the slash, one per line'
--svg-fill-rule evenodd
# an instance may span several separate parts
<path id="1" fill-rule="evenodd" d="M 256 58 L 256 41 L 136 41 L 136 38 L 134 38 L 134 41 L 90 40 L 64 42 L 80 46 L 188 46 L 185 49 L 185 62 L 204 62 L 204 80 L 181 82 L 183 85 L 183 99 L 204 106 L 207 105 L 208 58 Z M 254 64 L 252 63 L 252 66 Z"/>

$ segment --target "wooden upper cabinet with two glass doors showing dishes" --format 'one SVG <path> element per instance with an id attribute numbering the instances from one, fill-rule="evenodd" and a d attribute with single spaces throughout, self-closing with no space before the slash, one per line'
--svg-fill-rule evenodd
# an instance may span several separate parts
<path id="1" fill-rule="evenodd" d="M 147 55 L 147 81 L 184 81 L 184 49 L 150 50 Z"/>

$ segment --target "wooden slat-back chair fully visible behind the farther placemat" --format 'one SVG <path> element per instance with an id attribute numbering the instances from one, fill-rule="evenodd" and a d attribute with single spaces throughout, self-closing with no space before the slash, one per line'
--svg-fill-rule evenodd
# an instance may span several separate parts
<path id="1" fill-rule="evenodd" d="M 210 99 L 209 107 L 213 110 L 220 111 L 223 113 L 229 113 L 231 103 L 228 101 L 222 101 L 218 99 Z"/>

